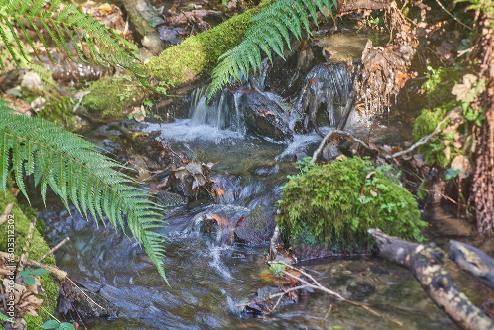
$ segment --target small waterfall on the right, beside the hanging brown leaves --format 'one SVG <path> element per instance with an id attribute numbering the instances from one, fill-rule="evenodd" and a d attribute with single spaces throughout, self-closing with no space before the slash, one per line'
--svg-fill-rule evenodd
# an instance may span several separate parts
<path id="1" fill-rule="evenodd" d="M 298 112 L 305 112 L 308 108 L 311 113 L 317 111 L 320 104 L 326 104 L 329 124 L 335 127 L 351 91 L 350 70 L 345 64 L 337 62 L 319 64 L 307 74 L 306 81 L 295 101 Z"/>

